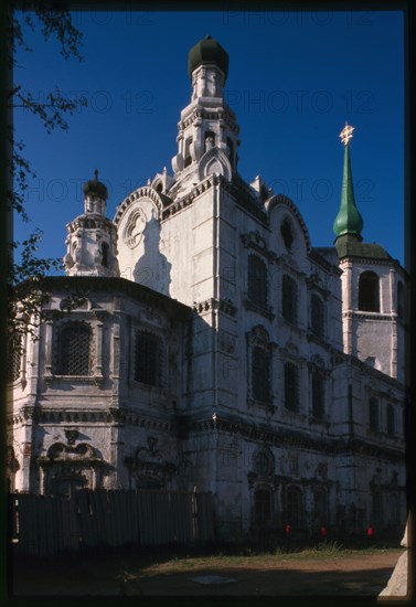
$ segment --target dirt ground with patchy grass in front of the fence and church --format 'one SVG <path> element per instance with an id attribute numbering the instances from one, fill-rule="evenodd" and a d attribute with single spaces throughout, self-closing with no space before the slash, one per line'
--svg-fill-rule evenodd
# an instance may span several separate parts
<path id="1" fill-rule="evenodd" d="M 164 565 L 139 567 L 131 556 L 125 561 L 120 556 L 72 560 L 71 565 L 56 558 L 47 566 L 18 561 L 12 576 L 15 597 L 376 596 L 401 553 L 390 550 L 319 560 L 276 555 L 260 565 L 254 557 L 222 568 L 210 561 L 205 568 L 199 563 L 174 574 Z M 121 572 L 127 572 L 125 582 Z"/>

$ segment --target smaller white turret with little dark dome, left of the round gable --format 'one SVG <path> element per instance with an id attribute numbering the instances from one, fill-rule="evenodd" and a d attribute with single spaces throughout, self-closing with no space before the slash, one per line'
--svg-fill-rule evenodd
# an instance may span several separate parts
<path id="1" fill-rule="evenodd" d="M 106 217 L 108 192 L 97 170 L 83 190 L 84 213 L 66 226 L 65 271 L 68 276 L 119 276 L 117 230 Z"/>

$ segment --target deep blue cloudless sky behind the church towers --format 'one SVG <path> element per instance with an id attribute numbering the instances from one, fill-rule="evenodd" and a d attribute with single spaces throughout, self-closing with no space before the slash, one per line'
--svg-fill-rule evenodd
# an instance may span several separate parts
<path id="1" fill-rule="evenodd" d="M 267 4 L 266 4 L 267 7 Z M 404 61 L 401 12 L 79 12 L 85 61 L 31 35 L 15 82 L 42 99 L 56 85 L 88 107 L 70 130 L 47 135 L 17 109 L 17 137 L 36 178 L 32 217 L 15 238 L 44 231 L 40 255 L 65 254 L 65 225 L 83 212 L 94 169 L 109 190 L 107 215 L 177 153 L 191 84 L 188 52 L 206 34 L 230 54 L 228 104 L 241 126 L 238 170 L 260 174 L 299 207 L 312 246 L 333 244 L 345 120 L 355 127 L 351 161 L 363 237 L 404 263 Z"/>

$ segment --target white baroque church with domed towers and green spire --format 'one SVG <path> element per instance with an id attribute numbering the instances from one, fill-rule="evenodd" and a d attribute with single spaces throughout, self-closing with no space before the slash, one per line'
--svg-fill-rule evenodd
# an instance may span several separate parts
<path id="1" fill-rule="evenodd" d="M 242 179 L 227 70 L 211 36 L 191 49 L 173 174 L 113 221 L 97 172 L 84 185 L 66 276 L 9 361 L 9 489 L 211 491 L 223 540 L 401 533 L 406 271 L 362 238 L 352 127 L 334 246 Z"/>

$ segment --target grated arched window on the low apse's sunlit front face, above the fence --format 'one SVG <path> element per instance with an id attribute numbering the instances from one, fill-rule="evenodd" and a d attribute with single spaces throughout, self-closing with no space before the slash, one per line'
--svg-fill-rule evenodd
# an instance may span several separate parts
<path id="1" fill-rule="evenodd" d="M 89 324 L 71 322 L 61 329 L 57 374 L 90 375 L 93 369 L 93 332 Z"/>

